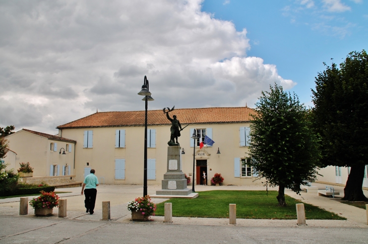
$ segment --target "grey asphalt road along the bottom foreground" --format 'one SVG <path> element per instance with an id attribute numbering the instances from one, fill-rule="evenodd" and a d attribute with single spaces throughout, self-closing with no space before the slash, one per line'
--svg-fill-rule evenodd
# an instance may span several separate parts
<path id="1" fill-rule="evenodd" d="M 0 216 L 0 243 L 367 243 L 358 227 L 247 227 Z"/>

